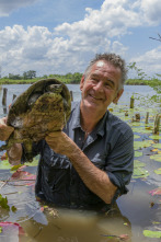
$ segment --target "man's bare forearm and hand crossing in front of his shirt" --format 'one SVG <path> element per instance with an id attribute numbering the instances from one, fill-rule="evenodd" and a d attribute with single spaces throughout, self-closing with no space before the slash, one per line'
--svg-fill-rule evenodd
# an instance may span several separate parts
<path id="1" fill-rule="evenodd" d="M 65 134 L 51 132 L 46 137 L 49 147 L 57 153 L 69 158 L 84 184 L 106 204 L 111 204 L 117 186 L 108 175 L 96 168 L 79 147 Z"/>

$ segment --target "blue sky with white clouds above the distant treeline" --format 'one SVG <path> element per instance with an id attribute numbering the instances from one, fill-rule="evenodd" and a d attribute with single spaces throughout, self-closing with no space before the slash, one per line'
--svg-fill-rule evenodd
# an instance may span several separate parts
<path id="1" fill-rule="evenodd" d="M 83 73 L 95 54 L 115 53 L 154 77 L 158 34 L 160 0 L 0 0 L 0 74 Z"/>

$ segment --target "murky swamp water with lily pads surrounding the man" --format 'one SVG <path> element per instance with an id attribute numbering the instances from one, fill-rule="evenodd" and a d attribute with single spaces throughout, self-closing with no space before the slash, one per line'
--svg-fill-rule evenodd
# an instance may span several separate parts
<path id="1" fill-rule="evenodd" d="M 13 94 L 19 95 L 28 85 L 8 88 L 8 105 Z M 73 100 L 80 100 L 79 85 L 68 85 Z M 134 94 L 135 108 L 129 108 Z M 117 105 L 111 112 L 127 122 L 135 134 L 135 170 L 129 193 L 117 199 L 117 206 L 107 215 L 94 211 L 60 209 L 38 201 L 34 194 L 36 162 L 22 171 L 11 171 L 8 161 L 0 161 L 0 194 L 8 198 L 8 209 L 0 208 L 0 242 L 159 242 L 161 241 L 161 129 L 153 135 L 154 115 L 161 114 L 161 104 L 153 102 L 156 92 L 149 87 L 125 87 Z M 2 92 L 0 93 L 0 100 Z M 1 102 L 1 101 L 0 101 Z M 0 117 L 7 108 L 0 103 Z M 145 124 L 149 112 L 149 122 Z M 128 116 L 125 116 L 128 113 Z M 135 114 L 140 122 L 131 122 Z M 14 180 L 11 180 L 14 176 Z M 25 233 L 25 234 L 24 234 Z M 21 234 L 21 235 L 19 235 Z"/>

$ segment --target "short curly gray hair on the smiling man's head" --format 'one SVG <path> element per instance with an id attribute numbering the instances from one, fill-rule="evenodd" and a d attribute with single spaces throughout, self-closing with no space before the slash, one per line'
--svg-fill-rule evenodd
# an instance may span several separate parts
<path id="1" fill-rule="evenodd" d="M 119 68 L 122 72 L 122 78 L 119 82 L 119 90 L 124 87 L 124 83 L 127 79 L 127 68 L 125 60 L 120 58 L 120 56 L 114 54 L 114 53 L 104 53 L 104 54 L 96 54 L 94 59 L 91 60 L 85 72 L 84 72 L 84 79 L 90 74 L 92 66 L 97 62 L 99 60 L 105 60 L 106 62 L 112 64 L 114 67 Z"/>

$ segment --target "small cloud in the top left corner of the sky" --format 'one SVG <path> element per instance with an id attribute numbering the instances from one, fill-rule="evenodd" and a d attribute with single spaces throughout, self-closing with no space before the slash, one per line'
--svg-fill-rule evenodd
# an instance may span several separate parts
<path id="1" fill-rule="evenodd" d="M 0 16 L 8 16 L 12 11 L 33 4 L 37 0 L 0 0 Z"/>

